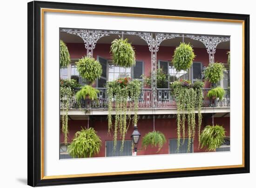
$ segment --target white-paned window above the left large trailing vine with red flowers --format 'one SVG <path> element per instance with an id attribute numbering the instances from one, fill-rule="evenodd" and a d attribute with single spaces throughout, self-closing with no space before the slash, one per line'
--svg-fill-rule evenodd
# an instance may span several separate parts
<path id="1" fill-rule="evenodd" d="M 123 68 L 114 64 L 108 64 L 108 81 L 115 81 L 124 77 L 131 77 L 131 68 Z"/>

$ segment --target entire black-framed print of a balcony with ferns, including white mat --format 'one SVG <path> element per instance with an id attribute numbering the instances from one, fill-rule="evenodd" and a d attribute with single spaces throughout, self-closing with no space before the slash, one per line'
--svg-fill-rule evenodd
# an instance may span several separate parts
<path id="1" fill-rule="evenodd" d="M 28 185 L 249 173 L 249 15 L 28 3 Z"/>

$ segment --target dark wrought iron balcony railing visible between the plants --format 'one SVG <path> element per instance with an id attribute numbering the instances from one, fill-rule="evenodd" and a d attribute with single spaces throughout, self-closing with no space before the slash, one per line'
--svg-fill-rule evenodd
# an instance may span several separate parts
<path id="1" fill-rule="evenodd" d="M 75 93 L 79 91 L 80 88 L 75 89 Z M 70 109 L 77 108 L 108 108 L 108 97 L 107 97 L 107 88 L 97 88 L 99 90 L 97 100 L 81 100 L 77 101 L 73 96 L 72 100 L 69 103 Z M 207 97 L 207 93 L 210 89 L 203 89 L 203 105 L 202 107 L 229 107 L 230 97 L 229 91 L 226 89 L 225 96 L 223 100 L 211 100 Z M 152 104 L 152 94 L 150 88 L 141 89 L 141 94 L 139 97 L 139 108 L 151 108 Z M 176 108 L 175 98 L 171 93 L 171 89 L 157 89 L 157 107 L 156 108 Z M 65 100 L 65 99 L 64 99 Z M 128 99 L 129 101 L 130 99 Z M 64 107 L 61 99 L 61 108 Z M 131 101 L 132 102 L 132 101 Z M 115 98 L 113 98 L 113 106 L 115 107 Z"/>

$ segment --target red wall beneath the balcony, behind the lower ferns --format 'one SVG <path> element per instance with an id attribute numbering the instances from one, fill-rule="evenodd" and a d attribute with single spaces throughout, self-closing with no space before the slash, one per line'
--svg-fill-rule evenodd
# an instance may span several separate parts
<path id="1" fill-rule="evenodd" d="M 205 127 L 205 125 L 211 125 L 212 119 L 203 119 L 202 121 L 202 128 Z M 230 129 L 229 129 L 229 118 L 215 118 L 214 119 L 215 124 L 223 125 L 226 130 L 226 136 L 229 137 Z M 87 120 L 69 120 L 68 121 L 68 127 L 69 127 L 69 134 L 68 134 L 68 142 L 72 141 L 72 138 L 74 138 L 74 133 L 81 130 L 81 127 L 87 127 Z M 90 121 L 89 126 L 93 127 L 95 131 L 97 131 L 97 134 L 101 137 L 102 145 L 100 153 L 94 157 L 105 157 L 105 142 L 107 140 L 113 140 L 113 132 L 110 135 L 107 134 L 108 132 L 108 121 L 106 120 L 97 120 L 97 121 Z M 140 119 L 138 121 L 138 130 L 141 133 L 141 138 L 145 136 L 148 132 L 153 131 L 153 119 Z M 155 119 L 155 130 L 162 132 L 167 142 L 164 144 L 162 149 L 157 152 L 157 148 L 148 146 L 148 148 L 145 150 L 144 148 L 141 148 L 141 139 L 138 145 L 137 155 L 155 155 L 155 154 L 168 154 L 169 153 L 169 143 L 168 139 L 170 138 L 177 138 L 176 136 L 176 119 Z M 126 140 L 130 140 L 130 136 L 133 132 L 133 126 L 130 125 L 128 132 L 126 134 Z M 186 131 L 187 132 L 187 131 Z M 61 134 L 61 142 L 64 141 L 63 134 Z M 198 149 L 198 137 L 197 133 L 195 135 L 194 139 L 194 152 L 203 152 L 205 149 Z"/>

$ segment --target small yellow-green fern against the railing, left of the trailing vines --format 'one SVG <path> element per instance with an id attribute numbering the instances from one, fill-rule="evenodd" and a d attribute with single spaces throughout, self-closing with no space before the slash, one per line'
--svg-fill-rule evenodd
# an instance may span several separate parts
<path id="1" fill-rule="evenodd" d="M 76 100 L 80 101 L 81 99 L 95 100 L 97 99 L 97 94 L 99 93 L 98 89 L 95 89 L 89 85 L 83 86 L 76 94 Z"/>

